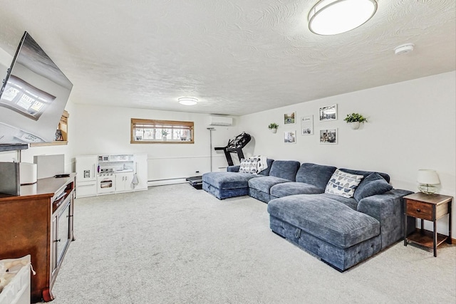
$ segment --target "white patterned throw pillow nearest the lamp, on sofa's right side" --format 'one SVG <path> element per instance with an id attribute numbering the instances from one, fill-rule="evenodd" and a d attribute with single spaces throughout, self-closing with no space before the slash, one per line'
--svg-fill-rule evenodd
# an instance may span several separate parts
<path id="1" fill-rule="evenodd" d="M 363 175 L 351 174 L 336 169 L 331 179 L 329 179 L 328 184 L 326 184 L 325 193 L 353 197 L 361 179 L 363 179 Z"/>

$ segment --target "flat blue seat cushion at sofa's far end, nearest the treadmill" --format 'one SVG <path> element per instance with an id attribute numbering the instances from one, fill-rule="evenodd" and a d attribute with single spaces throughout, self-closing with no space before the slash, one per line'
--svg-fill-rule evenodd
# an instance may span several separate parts
<path id="1" fill-rule="evenodd" d="M 239 172 L 209 172 L 202 174 L 202 182 L 218 189 L 236 189 L 249 187 L 249 179 L 258 175 Z"/>

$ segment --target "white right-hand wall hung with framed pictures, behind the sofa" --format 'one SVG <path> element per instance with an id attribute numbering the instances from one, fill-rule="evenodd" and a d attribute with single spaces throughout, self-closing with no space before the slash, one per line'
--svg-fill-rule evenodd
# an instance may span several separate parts
<path id="1" fill-rule="evenodd" d="M 245 115 L 239 127 L 254 137 L 249 155 L 387 172 L 395 188 L 413 192 L 418 191 L 418 169 L 435 169 L 441 182 L 438 193 L 455 196 L 455 76 L 444 73 Z M 319 108 L 333 104 L 338 105 L 338 120 L 319 122 Z M 285 126 L 284 113 L 294 111 L 298 122 Z M 343 121 L 351 112 L 361 113 L 368 123 L 351 130 Z M 305 115 L 314 115 L 314 135 L 300 135 L 299 118 Z M 279 124 L 276 134 L 267 129 L 271 122 Z M 338 129 L 338 144 L 319 144 L 319 130 L 333 127 Z M 296 144 L 284 144 L 284 131 L 292 130 L 297 131 Z M 453 201 L 456 227 L 454 206 Z M 446 217 L 437 230 L 447 234 L 445 223 Z"/>

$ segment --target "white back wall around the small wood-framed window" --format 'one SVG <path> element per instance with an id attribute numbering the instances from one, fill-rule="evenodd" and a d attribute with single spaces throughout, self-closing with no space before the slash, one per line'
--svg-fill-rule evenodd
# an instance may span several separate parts
<path id="1" fill-rule="evenodd" d="M 75 154 L 147 154 L 150 185 L 164 184 L 166 179 L 182 179 L 210 171 L 210 133 L 207 114 L 167 112 L 134 108 L 108 108 L 76 105 Z M 195 122 L 195 144 L 130 144 L 130 119 L 182 120 Z M 230 127 L 214 127 L 213 147 L 224 147 L 237 135 L 237 118 Z M 212 171 L 227 167 L 222 152 L 212 149 Z"/>

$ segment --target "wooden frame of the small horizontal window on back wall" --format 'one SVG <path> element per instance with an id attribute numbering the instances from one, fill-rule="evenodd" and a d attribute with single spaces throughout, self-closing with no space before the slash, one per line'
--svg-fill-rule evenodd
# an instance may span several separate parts
<path id="1" fill-rule="evenodd" d="M 150 129 L 185 129 L 188 128 L 191 133 L 192 140 L 135 140 L 135 130 L 137 125 L 150 125 Z M 158 127 L 156 127 L 158 126 Z M 165 126 L 169 126 L 165 128 Z M 146 128 L 146 127 L 142 127 Z M 130 144 L 195 144 L 195 122 L 180 121 L 180 120 L 147 120 L 141 118 L 131 118 L 130 120 Z"/>

